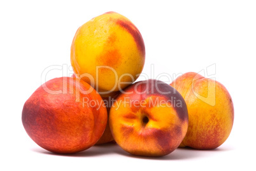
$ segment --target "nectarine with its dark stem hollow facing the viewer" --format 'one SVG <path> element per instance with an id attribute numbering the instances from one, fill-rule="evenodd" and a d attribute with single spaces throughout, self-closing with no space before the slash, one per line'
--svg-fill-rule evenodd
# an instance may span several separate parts
<path id="1" fill-rule="evenodd" d="M 180 93 L 166 83 L 139 81 L 118 96 L 109 123 L 115 141 L 128 153 L 164 156 L 187 133 L 187 106 Z"/>

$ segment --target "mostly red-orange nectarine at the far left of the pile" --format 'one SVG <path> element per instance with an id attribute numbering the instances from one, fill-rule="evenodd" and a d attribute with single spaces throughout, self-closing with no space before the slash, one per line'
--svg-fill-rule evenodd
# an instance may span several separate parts
<path id="1" fill-rule="evenodd" d="M 60 92 L 57 92 L 60 91 Z M 94 106 L 83 104 L 94 100 Z M 22 111 L 25 131 L 36 144 L 53 153 L 76 153 L 103 135 L 107 111 L 103 99 L 77 78 L 55 78 L 32 93 Z"/>

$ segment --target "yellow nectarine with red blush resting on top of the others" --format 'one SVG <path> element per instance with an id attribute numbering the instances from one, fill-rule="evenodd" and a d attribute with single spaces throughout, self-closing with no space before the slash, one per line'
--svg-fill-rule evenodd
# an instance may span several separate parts
<path id="1" fill-rule="evenodd" d="M 71 45 L 73 70 L 103 96 L 108 91 L 131 85 L 141 74 L 144 64 L 143 38 L 137 27 L 123 15 L 104 13 L 76 31 Z"/>

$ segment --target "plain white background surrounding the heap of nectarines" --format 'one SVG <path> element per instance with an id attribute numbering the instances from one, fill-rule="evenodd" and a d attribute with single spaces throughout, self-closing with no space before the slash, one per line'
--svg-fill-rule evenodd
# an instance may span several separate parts
<path id="1" fill-rule="evenodd" d="M 0 170 L 255 170 L 255 9 L 255 1 L 234 0 L 1 1 Z M 43 83 L 47 67 L 70 66 L 76 29 L 107 11 L 138 27 L 146 46 L 143 73 L 150 74 L 154 65 L 150 78 L 215 65 L 211 73 L 229 90 L 235 109 L 234 127 L 222 146 L 143 158 L 106 145 L 65 156 L 48 153 L 29 138 L 21 121 L 25 100 Z M 46 80 L 71 73 L 63 71 L 48 72 Z"/>

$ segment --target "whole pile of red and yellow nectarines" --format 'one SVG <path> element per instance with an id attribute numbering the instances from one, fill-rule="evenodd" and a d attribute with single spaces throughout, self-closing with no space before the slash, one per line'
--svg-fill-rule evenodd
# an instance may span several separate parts
<path id="1" fill-rule="evenodd" d="M 225 142 L 234 107 L 222 84 L 195 72 L 171 85 L 134 83 L 144 64 L 143 38 L 128 18 L 115 12 L 92 18 L 71 44 L 73 76 L 46 81 L 25 102 L 25 131 L 53 153 L 115 141 L 131 154 L 164 156 Z"/>

